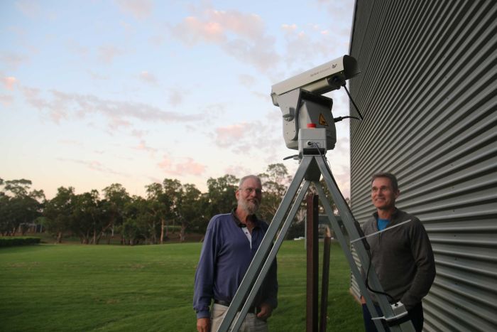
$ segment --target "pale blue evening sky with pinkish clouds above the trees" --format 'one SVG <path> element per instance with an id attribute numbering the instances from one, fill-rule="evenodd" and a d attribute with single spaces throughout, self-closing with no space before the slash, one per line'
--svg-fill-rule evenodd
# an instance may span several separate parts
<path id="1" fill-rule="evenodd" d="M 271 85 L 349 53 L 354 0 L 0 1 L 0 178 L 50 199 L 262 173 L 285 146 Z M 334 117 L 346 92 L 329 92 Z M 349 123 L 327 158 L 349 197 Z"/>

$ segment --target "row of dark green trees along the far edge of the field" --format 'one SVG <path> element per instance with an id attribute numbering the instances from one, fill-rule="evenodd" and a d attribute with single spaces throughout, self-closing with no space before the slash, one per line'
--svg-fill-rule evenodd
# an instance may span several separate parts
<path id="1" fill-rule="evenodd" d="M 258 214 L 271 222 L 291 181 L 283 164 L 271 164 L 258 174 L 263 182 L 263 201 Z M 120 183 L 112 183 L 99 193 L 76 194 L 75 188 L 60 187 L 52 199 L 43 191 L 31 189 L 26 179 L 0 178 L 0 233 L 25 234 L 30 227 L 49 232 L 57 242 L 67 235 L 83 244 L 110 243 L 119 237 L 122 244 L 158 244 L 178 230 L 180 240 L 187 232 L 202 233 L 210 218 L 229 213 L 236 205 L 239 178 L 225 175 L 207 180 L 207 193 L 194 184 L 165 178 L 146 186 L 146 197 L 130 196 Z M 299 212 L 300 220 L 305 210 Z"/>

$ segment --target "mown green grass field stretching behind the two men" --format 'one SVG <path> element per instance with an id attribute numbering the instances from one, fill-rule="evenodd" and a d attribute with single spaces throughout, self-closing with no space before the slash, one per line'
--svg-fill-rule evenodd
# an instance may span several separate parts
<path id="1" fill-rule="evenodd" d="M 0 331 L 195 331 L 200 249 L 200 243 L 1 249 Z M 270 330 L 305 331 L 302 241 L 283 243 L 278 283 Z M 349 266 L 334 243 L 328 331 L 362 331 L 361 307 L 348 289 Z"/>

